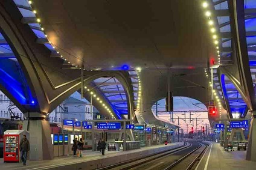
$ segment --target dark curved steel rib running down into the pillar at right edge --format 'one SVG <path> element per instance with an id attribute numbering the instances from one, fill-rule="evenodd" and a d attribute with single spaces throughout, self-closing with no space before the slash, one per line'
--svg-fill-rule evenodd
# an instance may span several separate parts
<path id="1" fill-rule="evenodd" d="M 246 43 L 246 30 L 245 30 L 245 4 L 240 0 L 229 0 L 229 12 L 231 13 L 231 34 L 232 34 L 232 49 L 237 59 L 237 68 L 240 75 L 240 85 L 245 92 L 245 102 L 249 110 L 253 112 L 254 118 L 256 103 L 255 92 L 252 83 L 251 70 L 249 67 L 248 49 Z M 256 161 L 256 123 L 252 119 L 250 128 L 248 151 L 246 153 L 246 160 Z"/>

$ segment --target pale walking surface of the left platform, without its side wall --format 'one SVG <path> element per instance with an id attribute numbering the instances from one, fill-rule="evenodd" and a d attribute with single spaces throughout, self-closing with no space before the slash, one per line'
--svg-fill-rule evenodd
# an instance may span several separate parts
<path id="1" fill-rule="evenodd" d="M 167 146 L 170 147 L 170 145 L 175 148 L 179 145 L 184 144 L 183 142 L 177 142 L 175 144 L 168 144 Z M 105 155 L 102 156 L 100 151 L 84 151 L 84 157 L 74 157 L 74 156 L 63 156 L 63 157 L 55 157 L 53 160 L 28 160 L 27 166 L 22 166 L 22 163 L 4 163 L 3 159 L 0 159 L 0 169 L 8 169 L 8 170 L 14 170 L 14 169 L 30 169 L 30 170 L 36 170 L 36 169 L 47 169 L 51 168 L 53 166 L 63 166 L 68 165 L 70 163 L 80 163 L 80 162 L 87 162 L 91 160 L 97 160 L 97 159 L 104 159 L 107 157 L 114 157 L 114 156 L 121 156 L 122 154 L 128 154 L 128 153 L 135 153 L 145 150 L 153 150 L 155 148 L 162 148 L 167 147 L 166 145 L 154 145 L 151 147 L 144 147 L 140 148 L 138 150 L 130 150 L 130 151 L 105 151 Z"/>

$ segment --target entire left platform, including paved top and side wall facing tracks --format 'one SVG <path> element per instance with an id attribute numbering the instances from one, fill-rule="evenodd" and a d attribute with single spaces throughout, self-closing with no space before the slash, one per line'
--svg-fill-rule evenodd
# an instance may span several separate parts
<path id="1" fill-rule="evenodd" d="M 129 151 L 105 151 L 102 156 L 99 151 L 84 151 L 84 157 L 63 156 L 55 157 L 53 160 L 28 160 L 27 166 L 22 163 L 4 163 L 0 159 L 1 169 L 97 169 L 103 166 L 113 165 L 115 163 L 125 162 L 138 157 L 148 156 L 150 154 L 159 153 L 161 151 L 170 150 L 171 148 L 180 147 L 184 142 L 176 142 L 168 145 L 154 145 L 144 147 L 138 150 Z"/>

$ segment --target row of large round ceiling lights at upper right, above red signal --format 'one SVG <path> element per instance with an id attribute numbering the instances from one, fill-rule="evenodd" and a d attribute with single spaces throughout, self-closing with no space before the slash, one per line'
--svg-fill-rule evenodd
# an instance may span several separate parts
<path id="1" fill-rule="evenodd" d="M 205 16 L 208 19 L 208 25 L 210 26 L 210 32 L 212 33 L 212 37 L 213 37 L 213 42 L 214 45 L 216 46 L 216 50 L 217 50 L 217 55 L 218 55 L 218 63 L 220 65 L 220 50 L 219 50 L 219 41 L 218 41 L 218 36 L 216 34 L 217 29 L 214 28 L 214 21 L 212 19 L 212 13 L 209 9 L 209 4 L 206 1 L 203 1 L 202 3 L 202 7 L 205 9 Z"/>

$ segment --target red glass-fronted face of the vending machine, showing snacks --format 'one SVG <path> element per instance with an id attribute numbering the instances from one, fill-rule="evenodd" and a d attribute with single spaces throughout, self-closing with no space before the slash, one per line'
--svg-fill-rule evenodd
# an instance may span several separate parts
<path id="1" fill-rule="evenodd" d="M 4 162 L 19 162 L 19 135 L 4 137 Z"/>

